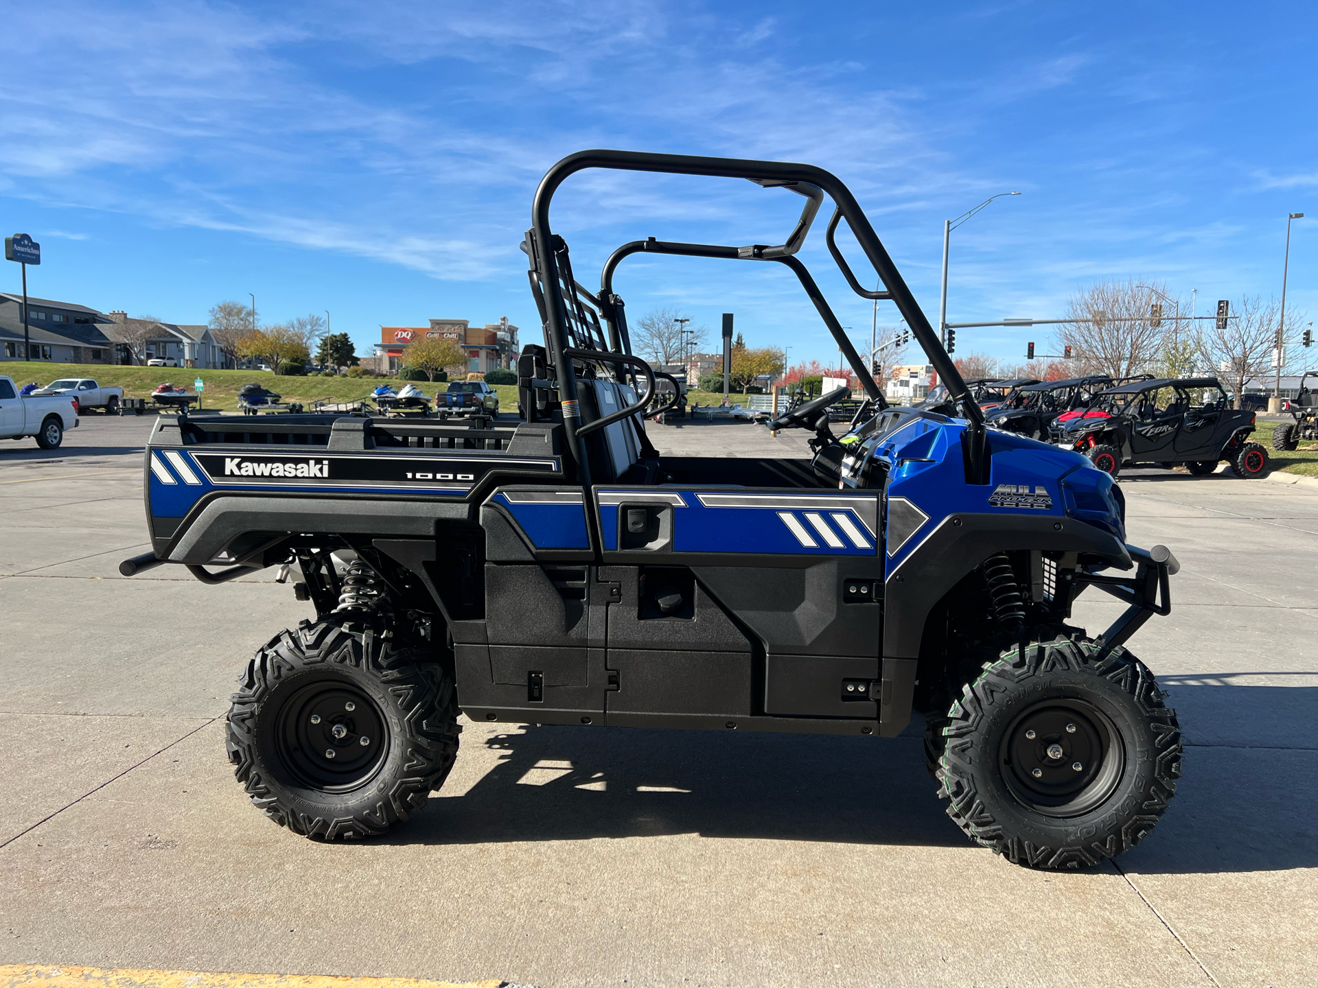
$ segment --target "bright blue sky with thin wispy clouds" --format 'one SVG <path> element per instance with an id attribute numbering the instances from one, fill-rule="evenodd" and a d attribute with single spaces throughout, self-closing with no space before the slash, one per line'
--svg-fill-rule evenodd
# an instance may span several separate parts
<path id="1" fill-rule="evenodd" d="M 1297 211 L 1288 307 L 1318 310 L 1313 3 L 43 0 L 5 20 L 0 224 L 42 244 L 34 295 L 103 311 L 195 323 L 254 292 L 264 320 L 330 310 L 358 352 L 431 316 L 534 340 L 517 245 L 540 175 L 581 148 L 821 165 L 931 321 L 942 221 L 1011 190 L 953 234 L 953 321 L 1056 316 L 1097 278 L 1198 288 L 1201 315 L 1280 294 Z M 588 173 L 554 217 L 590 283 L 637 237 L 780 242 L 799 203 Z M 801 257 L 867 337 L 822 232 Z M 789 278 L 633 258 L 617 287 L 633 319 L 676 306 L 717 332 L 731 311 L 751 344 L 833 360 Z"/>

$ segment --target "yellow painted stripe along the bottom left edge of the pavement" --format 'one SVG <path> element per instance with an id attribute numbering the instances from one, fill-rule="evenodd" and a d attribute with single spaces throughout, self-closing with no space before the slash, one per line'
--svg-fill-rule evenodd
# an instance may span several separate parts
<path id="1" fill-rule="evenodd" d="M 489 981 L 427 981 L 419 977 L 246 975 L 212 971 L 0 964 L 0 988 L 500 988 Z"/>

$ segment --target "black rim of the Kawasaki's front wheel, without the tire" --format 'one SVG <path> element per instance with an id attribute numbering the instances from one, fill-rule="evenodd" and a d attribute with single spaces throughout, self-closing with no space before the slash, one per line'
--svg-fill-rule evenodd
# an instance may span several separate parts
<path id="1" fill-rule="evenodd" d="M 1003 781 L 1024 806 L 1075 817 L 1116 789 L 1126 750 L 1111 719 L 1078 700 L 1044 700 L 1019 714 L 998 752 Z"/>

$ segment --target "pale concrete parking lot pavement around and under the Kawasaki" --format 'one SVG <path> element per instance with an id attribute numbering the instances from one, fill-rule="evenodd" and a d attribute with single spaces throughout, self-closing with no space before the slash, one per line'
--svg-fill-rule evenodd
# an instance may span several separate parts
<path id="1" fill-rule="evenodd" d="M 1302 985 L 1318 971 L 1318 491 L 1130 472 L 1184 569 L 1131 643 L 1188 752 L 1120 867 L 970 846 L 896 740 L 467 725 L 387 839 L 266 822 L 224 757 L 252 651 L 311 617 L 264 578 L 123 580 L 150 420 L 0 447 L 0 963 L 551 985 Z M 749 424 L 670 452 L 797 454 Z M 1116 613 L 1078 607 L 1091 630 Z"/>

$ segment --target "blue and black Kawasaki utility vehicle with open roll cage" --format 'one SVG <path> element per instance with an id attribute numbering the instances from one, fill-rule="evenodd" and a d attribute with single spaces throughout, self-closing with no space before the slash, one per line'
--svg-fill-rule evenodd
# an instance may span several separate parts
<path id="1" fill-rule="evenodd" d="M 592 291 L 550 225 L 585 169 L 750 179 L 804 208 L 778 245 L 623 244 Z M 960 415 L 886 406 L 797 258 L 825 198 L 842 275 L 896 304 Z M 880 290 L 853 274 L 842 221 Z M 154 552 L 123 572 L 282 566 L 316 610 L 233 697 L 228 752 L 257 808 L 308 837 L 381 834 L 444 782 L 460 711 L 891 738 L 915 710 L 952 818 L 1014 862 L 1094 864 L 1157 823 L 1181 735 L 1124 645 L 1168 613 L 1177 563 L 1126 543 L 1122 494 L 1083 456 L 985 427 L 846 186 L 808 165 L 581 151 L 544 177 L 522 246 L 544 345 L 521 354 L 521 420 L 181 415 L 152 435 Z M 841 389 L 772 423 L 813 432 L 811 461 L 660 456 L 641 412 L 663 375 L 614 291 L 634 254 L 791 271 L 865 391 L 849 431 L 830 427 Z M 1069 623 L 1090 586 L 1127 605 L 1097 635 Z"/>

